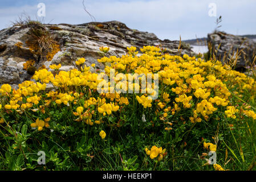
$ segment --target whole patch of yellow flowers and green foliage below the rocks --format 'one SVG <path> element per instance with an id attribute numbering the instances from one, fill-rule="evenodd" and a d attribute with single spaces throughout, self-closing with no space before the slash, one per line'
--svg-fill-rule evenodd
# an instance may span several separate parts
<path id="1" fill-rule="evenodd" d="M 121 57 L 97 60 L 107 77 L 112 69 L 127 79 L 129 74 L 158 75 L 159 84 L 147 81 L 148 88 L 136 75 L 138 82 L 127 87 L 127 79 L 105 81 L 107 91 L 119 86 L 132 93 L 99 93 L 104 80 L 92 70 L 95 65 L 86 67 L 84 58 L 76 60 L 79 70 L 35 71 L 36 82 L 25 81 L 17 90 L 3 84 L 0 168 L 255 169 L 254 78 L 216 59 L 172 56 L 151 46 L 140 51 L 137 56 L 131 47 Z M 46 91 L 46 84 L 55 90 Z M 39 165 L 38 152 L 44 152 L 45 164 Z M 213 153 L 215 163 L 210 162 Z"/>

